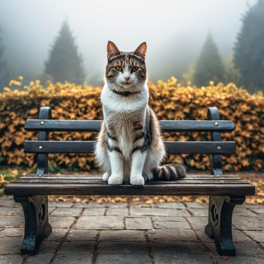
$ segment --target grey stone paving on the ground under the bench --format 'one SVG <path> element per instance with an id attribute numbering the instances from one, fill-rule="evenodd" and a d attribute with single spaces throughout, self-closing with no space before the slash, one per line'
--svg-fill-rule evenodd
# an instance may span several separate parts
<path id="1" fill-rule="evenodd" d="M 264 206 L 237 205 L 236 257 L 222 260 L 204 233 L 208 205 L 194 202 L 49 202 L 53 232 L 36 256 L 20 256 L 23 211 L 0 199 L 1 264 L 264 263 Z"/>

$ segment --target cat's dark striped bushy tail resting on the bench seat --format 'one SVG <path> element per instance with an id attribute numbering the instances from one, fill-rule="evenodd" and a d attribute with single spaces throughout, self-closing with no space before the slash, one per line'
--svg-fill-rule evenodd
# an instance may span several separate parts
<path id="1" fill-rule="evenodd" d="M 178 163 L 169 163 L 159 166 L 153 172 L 154 179 L 159 181 L 173 181 L 186 176 L 186 169 Z"/>

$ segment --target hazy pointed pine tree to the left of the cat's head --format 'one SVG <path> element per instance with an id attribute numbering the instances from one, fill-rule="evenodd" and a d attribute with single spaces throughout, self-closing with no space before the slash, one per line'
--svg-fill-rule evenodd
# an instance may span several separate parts
<path id="1" fill-rule="evenodd" d="M 49 59 L 45 63 L 45 73 L 53 77 L 54 82 L 71 82 L 83 84 L 85 72 L 82 56 L 78 54 L 75 39 L 67 21 L 59 31 L 49 51 Z"/>

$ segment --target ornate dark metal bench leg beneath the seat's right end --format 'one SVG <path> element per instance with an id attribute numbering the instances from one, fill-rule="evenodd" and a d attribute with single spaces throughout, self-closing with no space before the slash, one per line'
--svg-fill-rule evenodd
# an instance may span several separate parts
<path id="1" fill-rule="evenodd" d="M 215 241 L 219 255 L 235 256 L 232 238 L 232 214 L 235 205 L 243 204 L 245 196 L 210 196 L 209 219 L 205 233 Z"/>

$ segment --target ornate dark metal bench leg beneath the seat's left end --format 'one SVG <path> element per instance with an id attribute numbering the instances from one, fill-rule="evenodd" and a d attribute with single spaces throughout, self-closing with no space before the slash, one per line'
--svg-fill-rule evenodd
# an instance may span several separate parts
<path id="1" fill-rule="evenodd" d="M 21 255 L 35 255 L 44 237 L 51 233 L 48 220 L 48 195 L 14 195 L 20 202 L 25 216 L 25 235 L 21 246 Z"/>

